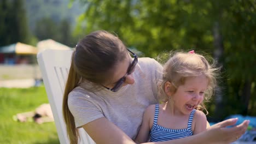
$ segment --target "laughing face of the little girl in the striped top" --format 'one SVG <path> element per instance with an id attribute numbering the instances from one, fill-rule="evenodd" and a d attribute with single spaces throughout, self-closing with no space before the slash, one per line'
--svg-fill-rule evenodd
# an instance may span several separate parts
<path id="1" fill-rule="evenodd" d="M 205 75 L 187 77 L 184 85 L 179 86 L 171 96 L 171 100 L 174 102 L 174 112 L 190 114 L 197 105 L 202 103 L 208 82 Z"/>

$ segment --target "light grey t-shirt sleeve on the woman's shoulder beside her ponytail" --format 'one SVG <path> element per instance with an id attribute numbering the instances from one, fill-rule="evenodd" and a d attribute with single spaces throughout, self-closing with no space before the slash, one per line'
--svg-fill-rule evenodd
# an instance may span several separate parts
<path id="1" fill-rule="evenodd" d="M 99 106 L 88 95 L 79 91 L 72 91 L 68 95 L 68 108 L 74 116 L 75 127 L 104 117 Z"/>

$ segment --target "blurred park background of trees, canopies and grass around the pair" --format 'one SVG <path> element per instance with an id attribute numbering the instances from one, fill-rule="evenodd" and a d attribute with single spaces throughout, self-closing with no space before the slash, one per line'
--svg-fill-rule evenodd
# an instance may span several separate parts
<path id="1" fill-rule="evenodd" d="M 256 116 L 255 0 L 1 0 L 0 143 L 59 143 L 54 123 L 18 123 L 13 115 L 48 103 L 39 51 L 72 49 L 100 29 L 140 57 L 208 53 L 222 67 L 208 121 Z"/>

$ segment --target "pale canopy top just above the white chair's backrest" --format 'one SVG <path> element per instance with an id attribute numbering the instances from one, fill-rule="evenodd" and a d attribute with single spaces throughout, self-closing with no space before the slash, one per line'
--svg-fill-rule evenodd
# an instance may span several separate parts
<path id="1" fill-rule="evenodd" d="M 39 41 L 37 43 L 37 49 L 40 52 L 46 49 L 70 50 L 71 47 L 58 43 L 57 41 L 54 41 L 52 39 L 46 39 L 46 40 Z"/>

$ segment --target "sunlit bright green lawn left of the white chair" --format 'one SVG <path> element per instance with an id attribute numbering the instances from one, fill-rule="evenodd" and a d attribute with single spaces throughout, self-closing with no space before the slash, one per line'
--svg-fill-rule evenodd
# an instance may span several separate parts
<path id="1" fill-rule="evenodd" d="M 54 122 L 15 122 L 16 113 L 49 103 L 44 87 L 0 88 L 0 143 L 60 143 Z"/>

